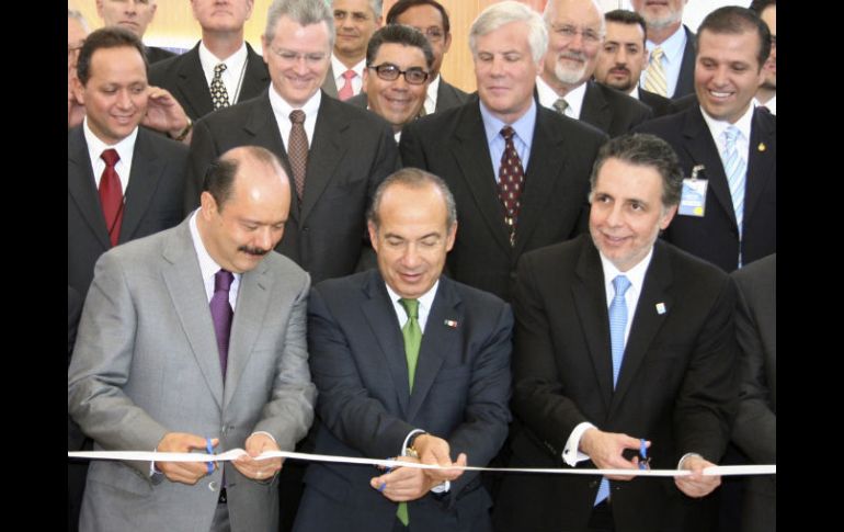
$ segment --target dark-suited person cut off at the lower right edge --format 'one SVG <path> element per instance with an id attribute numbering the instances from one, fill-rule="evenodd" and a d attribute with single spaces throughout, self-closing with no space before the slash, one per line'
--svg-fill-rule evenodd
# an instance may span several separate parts
<path id="1" fill-rule="evenodd" d="M 732 441 L 756 464 L 777 460 L 776 253 L 732 273 L 741 390 Z M 776 530 L 776 477 L 744 479 L 742 531 Z"/>

